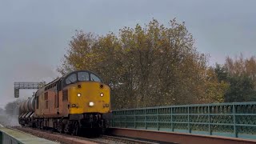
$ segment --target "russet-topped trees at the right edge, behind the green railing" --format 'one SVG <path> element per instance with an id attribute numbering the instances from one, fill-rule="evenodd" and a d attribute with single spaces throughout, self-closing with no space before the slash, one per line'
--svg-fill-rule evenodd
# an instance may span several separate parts
<path id="1" fill-rule="evenodd" d="M 256 58 L 226 58 L 225 65 L 216 69 L 220 79 L 230 83 L 225 102 L 250 102 L 256 100 Z"/>

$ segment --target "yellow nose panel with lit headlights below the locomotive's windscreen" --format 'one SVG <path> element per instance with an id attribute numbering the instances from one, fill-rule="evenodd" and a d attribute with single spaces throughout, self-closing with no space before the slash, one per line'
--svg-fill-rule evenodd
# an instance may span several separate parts
<path id="1" fill-rule="evenodd" d="M 102 82 L 78 82 L 67 90 L 70 114 L 110 112 L 110 87 Z"/>

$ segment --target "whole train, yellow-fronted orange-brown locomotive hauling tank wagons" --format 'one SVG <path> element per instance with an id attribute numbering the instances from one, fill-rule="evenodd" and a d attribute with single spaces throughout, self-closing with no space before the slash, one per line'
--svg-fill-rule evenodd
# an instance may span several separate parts
<path id="1" fill-rule="evenodd" d="M 110 113 L 110 87 L 88 70 L 57 78 L 22 102 L 18 122 L 22 126 L 53 129 L 78 135 L 81 131 L 101 133 L 104 114 Z"/>

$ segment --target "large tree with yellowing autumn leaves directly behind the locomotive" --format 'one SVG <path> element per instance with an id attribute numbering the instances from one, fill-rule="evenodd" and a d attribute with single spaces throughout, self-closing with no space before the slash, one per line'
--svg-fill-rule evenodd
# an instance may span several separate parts
<path id="1" fill-rule="evenodd" d="M 78 31 L 58 71 L 92 70 L 111 87 L 114 109 L 223 102 L 228 88 L 218 81 L 208 55 L 200 54 L 185 23 L 153 19 L 96 36 Z"/>

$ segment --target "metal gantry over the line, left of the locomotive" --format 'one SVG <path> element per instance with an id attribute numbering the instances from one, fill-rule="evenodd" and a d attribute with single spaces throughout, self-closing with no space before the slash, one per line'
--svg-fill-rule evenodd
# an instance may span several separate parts
<path id="1" fill-rule="evenodd" d="M 39 89 L 45 84 L 46 82 L 14 82 L 14 98 L 19 97 L 20 89 Z"/>

